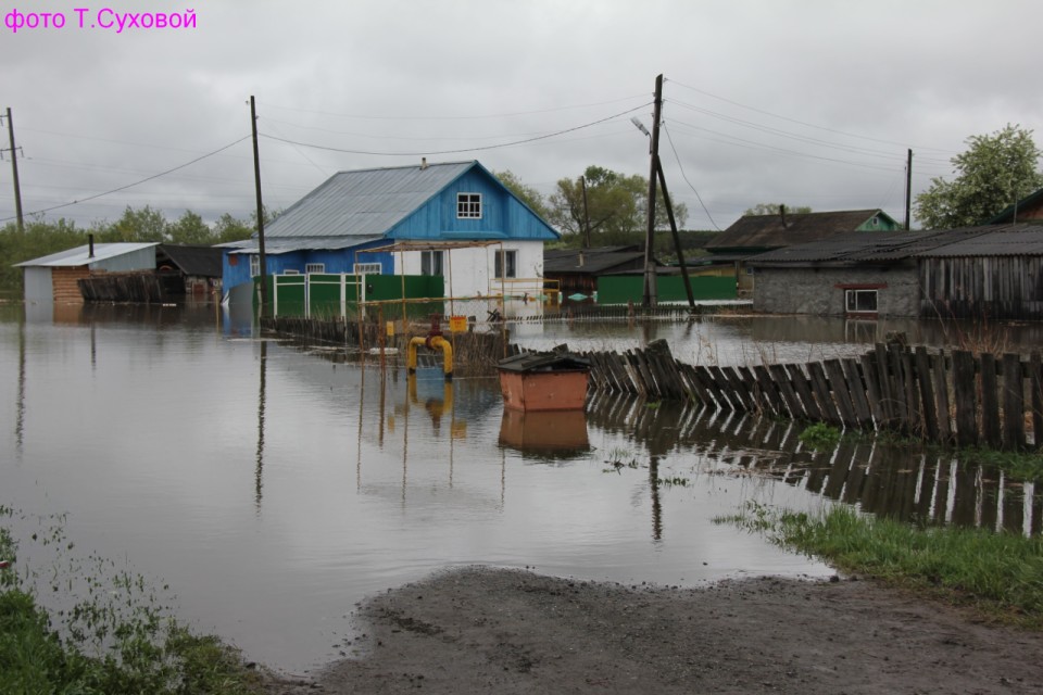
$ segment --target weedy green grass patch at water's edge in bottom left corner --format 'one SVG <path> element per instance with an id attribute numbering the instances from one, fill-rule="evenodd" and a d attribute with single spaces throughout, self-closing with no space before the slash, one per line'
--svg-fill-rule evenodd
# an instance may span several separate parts
<path id="1" fill-rule="evenodd" d="M 10 507 L 0 519 L 32 521 Z M 46 570 L 17 558 L 0 526 L 0 693 L 250 695 L 262 675 L 238 650 L 168 615 L 144 579 L 92 557 L 72 558 L 63 519 L 27 533 L 55 558 Z M 47 608 L 40 592 L 54 597 Z"/>

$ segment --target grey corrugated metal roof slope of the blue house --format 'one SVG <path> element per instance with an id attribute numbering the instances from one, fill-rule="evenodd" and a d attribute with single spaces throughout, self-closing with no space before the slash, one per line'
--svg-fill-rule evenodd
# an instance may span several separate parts
<path id="1" fill-rule="evenodd" d="M 340 172 L 265 228 L 265 247 L 276 238 L 382 236 L 474 166 L 476 161 Z"/>

